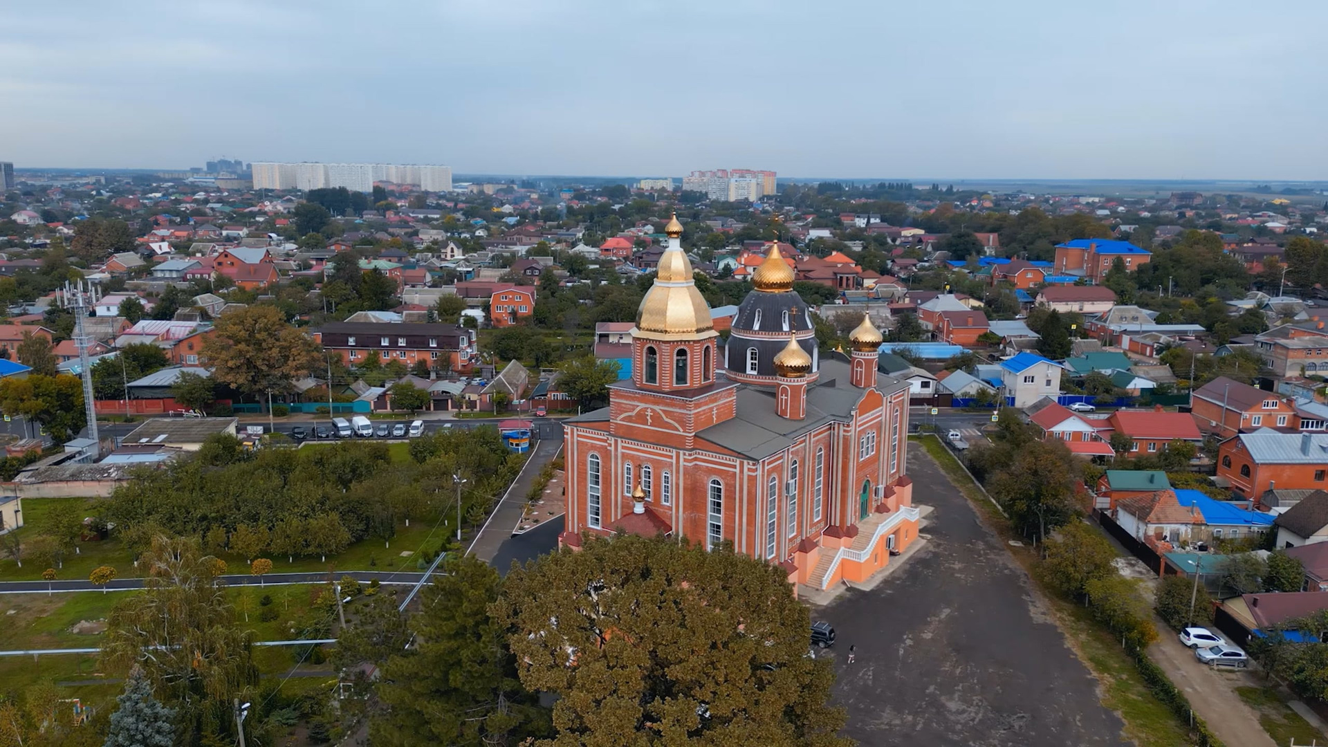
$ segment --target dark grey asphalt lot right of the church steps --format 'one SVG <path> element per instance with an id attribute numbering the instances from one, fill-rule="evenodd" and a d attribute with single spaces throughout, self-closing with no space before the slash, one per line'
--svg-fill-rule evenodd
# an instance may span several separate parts
<path id="1" fill-rule="evenodd" d="M 845 732 L 865 746 L 1130 744 L 1023 569 L 920 448 L 908 475 L 914 501 L 935 506 L 927 546 L 875 589 L 813 610 L 838 631 L 822 655 L 835 658 Z"/>

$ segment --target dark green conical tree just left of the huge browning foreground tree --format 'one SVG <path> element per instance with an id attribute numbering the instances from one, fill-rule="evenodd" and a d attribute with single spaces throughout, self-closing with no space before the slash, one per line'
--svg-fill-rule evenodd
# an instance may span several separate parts
<path id="1" fill-rule="evenodd" d="M 425 587 L 410 621 L 418 645 L 382 670 L 377 694 L 388 708 L 369 724 L 374 744 L 479 747 L 547 735 L 547 714 L 517 678 L 509 631 L 489 614 L 501 586 L 493 568 L 466 556 Z"/>

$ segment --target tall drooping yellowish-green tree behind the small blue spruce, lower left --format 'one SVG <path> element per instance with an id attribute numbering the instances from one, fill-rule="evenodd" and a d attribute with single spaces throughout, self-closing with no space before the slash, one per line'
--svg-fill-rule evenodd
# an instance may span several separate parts
<path id="1" fill-rule="evenodd" d="M 143 591 L 112 609 L 102 642 L 108 667 L 142 667 L 179 712 L 181 744 L 230 735 L 231 699 L 258 685 L 250 634 L 236 625 L 215 560 L 197 538 L 153 538 L 138 560 Z"/>

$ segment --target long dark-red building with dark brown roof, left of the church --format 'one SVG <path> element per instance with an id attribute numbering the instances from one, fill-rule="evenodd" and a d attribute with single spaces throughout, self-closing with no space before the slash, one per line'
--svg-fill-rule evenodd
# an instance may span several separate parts
<path id="1" fill-rule="evenodd" d="M 424 360 L 457 374 L 470 374 L 474 367 L 474 331 L 456 324 L 333 322 L 313 330 L 313 339 L 348 366 L 364 363 L 373 351 L 382 363 L 413 366 Z"/>

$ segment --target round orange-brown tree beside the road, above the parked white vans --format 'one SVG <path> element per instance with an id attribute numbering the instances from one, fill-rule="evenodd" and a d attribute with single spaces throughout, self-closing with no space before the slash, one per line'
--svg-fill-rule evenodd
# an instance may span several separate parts
<path id="1" fill-rule="evenodd" d="M 271 304 L 220 316 L 203 340 L 212 377 L 248 395 L 280 392 L 317 364 L 317 344 L 286 322 Z"/>

